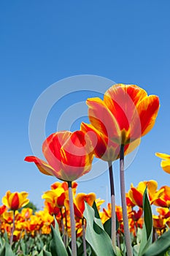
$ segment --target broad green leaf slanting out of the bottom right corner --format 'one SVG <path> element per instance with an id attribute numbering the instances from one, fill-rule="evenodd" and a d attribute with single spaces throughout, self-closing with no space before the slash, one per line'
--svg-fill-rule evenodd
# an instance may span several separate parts
<path id="1" fill-rule="evenodd" d="M 163 233 L 153 244 L 147 248 L 142 256 L 161 256 L 170 249 L 170 230 Z"/>

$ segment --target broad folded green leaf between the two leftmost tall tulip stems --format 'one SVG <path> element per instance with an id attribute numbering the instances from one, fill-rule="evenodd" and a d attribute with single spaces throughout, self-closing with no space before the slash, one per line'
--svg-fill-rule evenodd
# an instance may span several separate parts
<path id="1" fill-rule="evenodd" d="M 97 256 L 114 256 L 112 241 L 108 234 L 98 225 L 95 211 L 85 202 L 84 217 L 87 222 L 85 238 Z"/>

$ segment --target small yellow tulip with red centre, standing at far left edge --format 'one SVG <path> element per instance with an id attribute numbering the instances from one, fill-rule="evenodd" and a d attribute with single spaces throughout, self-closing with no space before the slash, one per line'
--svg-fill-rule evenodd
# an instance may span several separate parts
<path id="1" fill-rule="evenodd" d="M 2 203 L 7 208 L 16 211 L 19 208 L 26 206 L 29 203 L 27 192 L 13 192 L 7 191 L 6 195 L 2 198 Z"/>

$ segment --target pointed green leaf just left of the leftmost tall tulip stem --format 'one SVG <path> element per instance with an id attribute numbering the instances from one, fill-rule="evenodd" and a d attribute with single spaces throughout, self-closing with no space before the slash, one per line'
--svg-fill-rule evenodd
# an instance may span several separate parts
<path id="1" fill-rule="evenodd" d="M 61 238 L 61 233 L 58 227 L 58 222 L 55 219 L 55 229 L 51 225 L 52 239 L 50 241 L 50 252 L 52 256 L 68 256 L 66 248 Z"/>

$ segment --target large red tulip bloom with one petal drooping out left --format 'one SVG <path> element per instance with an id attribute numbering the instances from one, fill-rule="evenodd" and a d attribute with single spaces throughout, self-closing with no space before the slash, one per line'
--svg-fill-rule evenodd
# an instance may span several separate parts
<path id="1" fill-rule="evenodd" d="M 42 145 L 47 162 L 38 157 L 26 157 L 40 172 L 63 181 L 74 181 L 88 173 L 93 161 L 93 148 L 85 132 L 55 132 Z"/>

